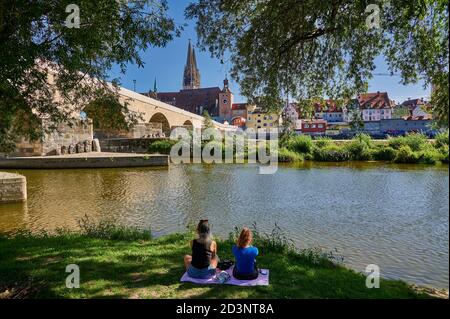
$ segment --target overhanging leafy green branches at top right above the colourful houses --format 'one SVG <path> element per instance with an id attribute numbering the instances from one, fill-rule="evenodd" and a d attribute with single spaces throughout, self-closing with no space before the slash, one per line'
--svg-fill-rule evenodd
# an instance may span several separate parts
<path id="1" fill-rule="evenodd" d="M 448 0 L 198 0 L 199 45 L 228 58 L 251 98 L 290 92 L 299 100 L 350 99 L 367 91 L 384 56 L 403 83 L 435 84 L 448 119 Z M 366 12 L 367 11 L 367 12 Z M 379 24 L 378 22 L 379 18 Z"/>

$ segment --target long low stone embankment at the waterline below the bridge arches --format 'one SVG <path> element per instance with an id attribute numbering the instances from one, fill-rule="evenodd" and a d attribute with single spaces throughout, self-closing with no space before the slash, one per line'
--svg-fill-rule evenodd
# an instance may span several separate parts
<path id="1" fill-rule="evenodd" d="M 169 166 L 169 156 L 92 152 L 58 156 L 0 158 L 0 169 L 87 169 L 152 166 Z"/>

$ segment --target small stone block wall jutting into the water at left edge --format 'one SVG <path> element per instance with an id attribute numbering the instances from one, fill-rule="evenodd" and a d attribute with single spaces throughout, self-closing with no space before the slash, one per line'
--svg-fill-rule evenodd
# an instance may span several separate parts
<path id="1" fill-rule="evenodd" d="M 0 204 L 27 200 L 27 180 L 24 176 L 0 172 Z"/>

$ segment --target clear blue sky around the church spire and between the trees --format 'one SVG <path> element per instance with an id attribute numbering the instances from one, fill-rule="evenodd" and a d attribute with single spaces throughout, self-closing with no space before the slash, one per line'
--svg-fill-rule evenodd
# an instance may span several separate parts
<path id="1" fill-rule="evenodd" d="M 168 14 L 178 25 L 187 24 L 180 37 L 169 42 L 165 48 L 150 48 L 142 52 L 142 60 L 145 63 L 143 68 L 129 65 L 127 72 L 122 74 L 118 67 L 114 67 L 110 72 L 110 78 L 119 78 L 122 86 L 130 90 L 134 90 L 133 80 L 136 80 L 136 91 L 141 93 L 153 89 L 156 78 L 159 92 L 178 92 L 182 87 L 189 39 L 192 39 L 193 44 L 197 42 L 195 21 L 186 20 L 184 17 L 184 9 L 190 2 L 190 0 L 168 0 Z M 196 49 L 196 54 L 201 86 L 222 87 L 230 65 L 222 65 L 218 59 L 211 58 L 208 52 L 201 52 L 199 49 Z M 376 59 L 376 65 L 374 73 L 390 73 L 383 57 Z M 245 102 L 246 98 L 241 96 L 239 85 L 232 79 L 230 82 L 235 102 Z M 404 86 L 399 82 L 398 76 L 374 76 L 369 82 L 369 92 L 388 92 L 392 100 L 400 103 L 408 98 L 429 99 L 430 89 L 424 89 L 422 83 Z"/>

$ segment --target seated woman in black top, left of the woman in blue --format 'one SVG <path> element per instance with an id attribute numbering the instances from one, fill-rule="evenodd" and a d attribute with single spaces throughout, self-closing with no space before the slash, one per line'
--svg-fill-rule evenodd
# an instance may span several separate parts
<path id="1" fill-rule="evenodd" d="M 219 258 L 217 243 L 211 239 L 207 220 L 197 226 L 198 238 L 190 242 L 192 256 L 184 256 L 184 265 L 190 277 L 205 279 L 215 275 Z"/>

